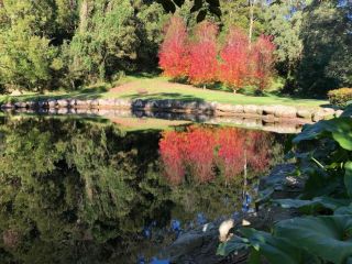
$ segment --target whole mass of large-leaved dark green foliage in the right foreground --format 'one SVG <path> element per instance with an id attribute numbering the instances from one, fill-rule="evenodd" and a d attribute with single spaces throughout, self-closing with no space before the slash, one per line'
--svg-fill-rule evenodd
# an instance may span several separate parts
<path id="1" fill-rule="evenodd" d="M 349 107 L 340 118 L 306 125 L 293 141 L 304 191 L 272 202 L 299 209 L 301 217 L 277 222 L 271 232 L 240 229 L 218 254 L 249 249 L 251 263 L 352 262 L 351 113 Z"/>

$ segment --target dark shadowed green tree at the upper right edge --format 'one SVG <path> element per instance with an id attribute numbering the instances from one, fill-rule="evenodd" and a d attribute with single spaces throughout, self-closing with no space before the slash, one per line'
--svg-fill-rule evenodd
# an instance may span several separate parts
<path id="1" fill-rule="evenodd" d="M 352 3 L 312 1 L 302 13 L 304 48 L 296 72 L 301 94 L 326 97 L 327 91 L 352 86 Z"/>

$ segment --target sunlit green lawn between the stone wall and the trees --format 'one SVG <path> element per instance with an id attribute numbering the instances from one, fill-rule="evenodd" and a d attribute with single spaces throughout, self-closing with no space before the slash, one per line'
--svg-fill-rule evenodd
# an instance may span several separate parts
<path id="1" fill-rule="evenodd" d="M 168 81 L 165 77 L 125 77 L 119 88 L 111 89 L 112 85 L 100 85 L 88 87 L 78 91 L 55 91 L 45 95 L 24 94 L 22 96 L 0 96 L 0 103 L 4 101 L 23 101 L 45 98 L 125 98 L 125 99 L 179 99 L 217 101 L 233 105 L 286 105 L 301 107 L 319 107 L 328 105 L 327 100 L 298 99 L 279 97 L 267 92 L 265 96 L 256 97 L 233 94 L 229 91 L 196 88 Z"/>

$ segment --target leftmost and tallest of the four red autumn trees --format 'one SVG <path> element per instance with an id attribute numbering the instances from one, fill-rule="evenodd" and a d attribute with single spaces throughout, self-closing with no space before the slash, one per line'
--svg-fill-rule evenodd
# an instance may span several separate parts
<path id="1" fill-rule="evenodd" d="M 173 16 L 165 30 L 165 38 L 160 47 L 160 67 L 169 77 L 179 78 L 188 73 L 187 29 L 184 21 Z"/>

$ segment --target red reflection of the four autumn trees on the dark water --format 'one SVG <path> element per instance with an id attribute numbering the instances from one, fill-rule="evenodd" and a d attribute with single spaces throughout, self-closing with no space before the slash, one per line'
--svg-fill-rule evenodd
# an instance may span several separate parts
<path id="1" fill-rule="evenodd" d="M 186 132 L 165 132 L 160 142 L 165 175 L 170 183 L 180 184 L 186 168 L 198 182 L 213 178 L 215 166 L 227 178 L 240 175 L 245 163 L 249 169 L 261 172 L 270 163 L 267 135 L 234 128 L 190 127 Z"/>

